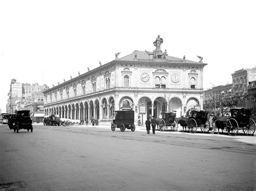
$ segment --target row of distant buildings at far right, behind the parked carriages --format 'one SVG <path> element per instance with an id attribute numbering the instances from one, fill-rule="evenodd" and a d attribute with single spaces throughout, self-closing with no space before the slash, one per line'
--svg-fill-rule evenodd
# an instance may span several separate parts
<path id="1" fill-rule="evenodd" d="M 232 74 L 232 84 L 204 91 L 204 110 L 221 114 L 232 107 L 245 107 L 255 112 L 255 81 L 256 67 L 235 71 Z"/>

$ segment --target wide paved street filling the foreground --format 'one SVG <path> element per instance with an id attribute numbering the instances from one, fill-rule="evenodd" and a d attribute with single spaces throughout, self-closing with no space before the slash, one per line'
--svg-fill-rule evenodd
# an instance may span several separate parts
<path id="1" fill-rule="evenodd" d="M 0 190 L 253 190 L 255 138 L 0 125 Z M 1 189 L 2 188 L 2 189 Z M 8 190 L 8 189 L 6 189 Z"/>

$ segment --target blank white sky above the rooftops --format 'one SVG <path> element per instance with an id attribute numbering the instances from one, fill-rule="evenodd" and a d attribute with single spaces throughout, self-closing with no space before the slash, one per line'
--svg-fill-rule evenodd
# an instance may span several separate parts
<path id="1" fill-rule="evenodd" d="M 2 1 L 0 108 L 11 79 L 52 87 L 134 50 L 153 51 L 157 35 L 170 56 L 199 61 L 204 88 L 232 83 L 253 68 L 256 1 Z M 163 36 L 164 35 L 164 36 Z"/>

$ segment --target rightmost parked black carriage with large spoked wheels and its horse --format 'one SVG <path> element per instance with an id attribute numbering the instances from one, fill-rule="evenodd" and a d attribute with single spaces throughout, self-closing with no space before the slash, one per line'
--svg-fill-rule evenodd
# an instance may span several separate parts
<path id="1" fill-rule="evenodd" d="M 215 125 L 222 131 L 226 128 L 228 135 L 235 136 L 239 129 L 246 135 L 253 136 L 255 132 L 255 122 L 250 118 L 251 109 L 248 108 L 233 108 L 230 109 L 230 117 L 217 117 Z"/>

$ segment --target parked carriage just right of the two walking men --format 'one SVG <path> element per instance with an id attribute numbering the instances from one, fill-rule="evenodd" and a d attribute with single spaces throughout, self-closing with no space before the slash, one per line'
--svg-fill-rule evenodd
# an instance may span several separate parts
<path id="1" fill-rule="evenodd" d="M 170 129 L 178 131 L 178 121 L 176 120 L 176 112 L 162 112 L 162 118 L 156 118 L 160 131 Z"/>

